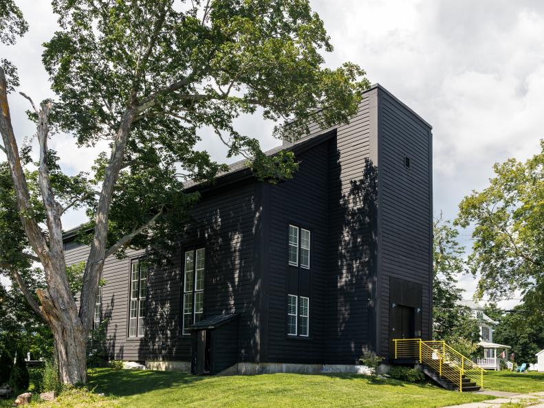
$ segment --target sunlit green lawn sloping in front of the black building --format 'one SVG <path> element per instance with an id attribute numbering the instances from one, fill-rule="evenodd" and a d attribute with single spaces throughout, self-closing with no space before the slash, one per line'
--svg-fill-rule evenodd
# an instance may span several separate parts
<path id="1" fill-rule="evenodd" d="M 122 407 L 443 407 L 489 399 L 431 384 L 357 375 L 263 374 L 202 377 L 177 372 L 96 370 L 96 392 Z"/>

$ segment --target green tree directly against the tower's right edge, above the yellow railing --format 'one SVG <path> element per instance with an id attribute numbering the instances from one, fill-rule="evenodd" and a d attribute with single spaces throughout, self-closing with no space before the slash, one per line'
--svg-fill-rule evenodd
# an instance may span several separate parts
<path id="1" fill-rule="evenodd" d="M 441 214 L 433 223 L 433 233 L 433 337 L 448 342 L 461 337 L 477 341 L 477 321 L 470 308 L 459 304 L 463 290 L 457 282 L 466 271 L 465 249 L 457 241 L 459 231 Z"/>

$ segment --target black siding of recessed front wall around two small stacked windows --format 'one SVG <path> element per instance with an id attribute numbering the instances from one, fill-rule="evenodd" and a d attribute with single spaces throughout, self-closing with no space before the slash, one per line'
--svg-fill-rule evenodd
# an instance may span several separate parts
<path id="1" fill-rule="evenodd" d="M 296 157 L 294 179 L 270 186 L 268 269 L 268 360 L 276 363 L 322 363 L 325 344 L 328 148 L 318 144 Z M 309 229 L 309 271 L 287 265 L 288 225 Z M 309 276 L 309 282 L 307 277 Z M 309 291 L 309 337 L 287 337 L 288 280 L 298 295 Z M 297 293 L 294 293 L 297 295 Z"/>

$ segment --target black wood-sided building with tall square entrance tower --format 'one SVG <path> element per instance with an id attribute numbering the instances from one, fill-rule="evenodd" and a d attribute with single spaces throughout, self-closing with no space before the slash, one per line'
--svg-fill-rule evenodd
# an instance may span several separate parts
<path id="1" fill-rule="evenodd" d="M 375 85 L 349 124 L 283 148 L 301 162 L 290 181 L 235 163 L 188 186 L 202 200 L 172 267 L 148 268 L 143 251 L 107 260 L 96 320 L 112 359 L 312 371 L 431 338 L 431 126 Z M 74 236 L 68 263 L 88 253 Z"/>

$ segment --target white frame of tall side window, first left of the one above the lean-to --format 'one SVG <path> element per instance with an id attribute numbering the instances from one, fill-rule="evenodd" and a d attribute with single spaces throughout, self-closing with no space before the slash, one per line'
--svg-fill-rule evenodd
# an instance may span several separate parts
<path id="1" fill-rule="evenodd" d="M 142 265 L 146 268 L 146 276 L 142 279 Z M 136 279 L 133 279 L 134 269 L 136 269 Z M 130 300 L 129 300 L 129 337 L 144 337 L 145 334 L 145 314 L 147 309 L 147 275 L 149 265 L 142 260 L 134 260 L 131 262 L 131 284 L 130 284 Z M 143 281 L 143 282 L 142 282 Z M 145 285 L 142 287 L 142 283 Z M 136 284 L 136 287 L 134 287 Z M 135 291 L 136 296 L 133 296 Z M 133 308 L 135 302 L 135 308 Z M 135 310 L 135 317 L 132 317 L 132 310 Z M 131 334 L 131 329 L 135 327 L 135 334 Z"/>

